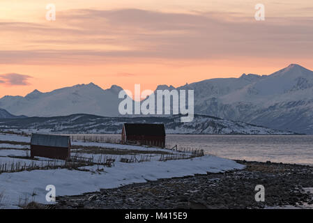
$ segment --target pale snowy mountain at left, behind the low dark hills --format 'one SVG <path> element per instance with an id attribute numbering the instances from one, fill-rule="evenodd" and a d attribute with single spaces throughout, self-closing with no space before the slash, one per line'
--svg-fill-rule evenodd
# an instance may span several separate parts
<path id="1" fill-rule="evenodd" d="M 103 90 L 96 84 L 78 84 L 48 93 L 35 90 L 25 97 L 5 96 L 0 107 L 15 115 L 66 116 L 84 113 L 116 116 L 121 87 Z"/>

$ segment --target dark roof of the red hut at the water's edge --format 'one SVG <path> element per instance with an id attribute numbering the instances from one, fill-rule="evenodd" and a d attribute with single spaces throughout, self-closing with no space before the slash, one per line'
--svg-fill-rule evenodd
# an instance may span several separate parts
<path id="1" fill-rule="evenodd" d="M 126 135 L 165 136 L 164 124 L 125 123 Z"/>

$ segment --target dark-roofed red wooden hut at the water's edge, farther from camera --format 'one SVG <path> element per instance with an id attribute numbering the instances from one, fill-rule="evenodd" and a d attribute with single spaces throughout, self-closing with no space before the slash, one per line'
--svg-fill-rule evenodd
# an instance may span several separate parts
<path id="1" fill-rule="evenodd" d="M 123 144 L 165 147 L 164 124 L 125 123 L 121 137 Z"/>

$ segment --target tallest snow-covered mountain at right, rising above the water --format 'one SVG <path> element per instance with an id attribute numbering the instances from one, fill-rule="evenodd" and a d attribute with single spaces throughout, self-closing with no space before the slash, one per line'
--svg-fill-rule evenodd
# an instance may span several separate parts
<path id="1" fill-rule="evenodd" d="M 313 72 L 291 64 L 272 75 L 208 79 L 194 89 L 195 113 L 313 134 Z"/>

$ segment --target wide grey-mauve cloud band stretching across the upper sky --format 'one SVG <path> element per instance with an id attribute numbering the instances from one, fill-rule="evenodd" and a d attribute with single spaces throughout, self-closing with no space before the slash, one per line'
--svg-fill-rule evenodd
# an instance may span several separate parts
<path id="1" fill-rule="evenodd" d="M 1 36 L 21 36 L 19 43 L 27 46 L 20 47 L 24 50 L 1 50 L 0 63 L 310 58 L 312 19 L 266 17 L 266 21 L 257 22 L 254 13 L 245 17 L 226 12 L 163 13 L 131 8 L 66 10 L 58 13 L 56 22 L 45 25 L 0 22 Z M 22 35 L 24 32 L 29 35 Z"/>

